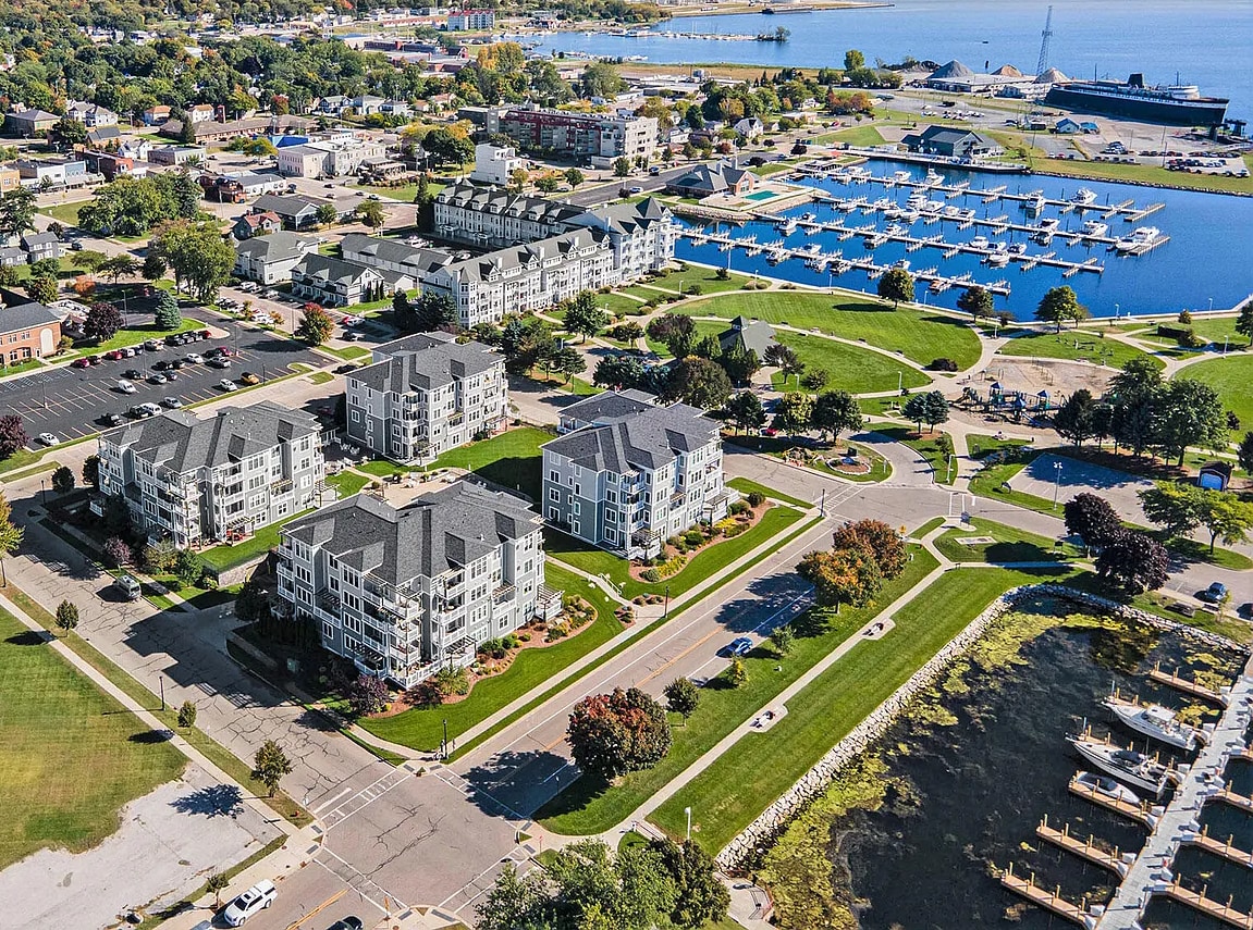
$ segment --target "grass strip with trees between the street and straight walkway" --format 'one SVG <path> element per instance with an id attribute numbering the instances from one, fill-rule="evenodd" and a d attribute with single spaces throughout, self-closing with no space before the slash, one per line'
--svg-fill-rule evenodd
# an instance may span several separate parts
<path id="1" fill-rule="evenodd" d="M 717 681 L 700 691 L 699 707 L 685 725 L 677 722 L 673 727 L 674 741 L 670 751 L 654 769 L 630 772 L 611 787 L 595 779 L 580 777 L 545 805 L 536 816 L 549 830 L 574 836 L 596 834 L 619 824 L 727 733 L 865 626 L 878 610 L 908 591 L 935 566 L 936 561 L 930 553 L 915 549 L 913 561 L 905 572 L 888 582 L 880 593 L 878 607 L 861 610 L 846 607 L 838 615 L 826 610 L 806 612 L 792 622 L 797 632 L 796 645 L 786 658 L 781 661 L 768 647 L 756 648 L 744 658 L 748 670 L 746 685 L 733 688 L 725 686 L 723 681 Z M 728 631 L 728 641 L 732 636 L 733 633 Z M 782 671 L 776 672 L 776 666 L 782 666 Z M 734 750 L 732 752 L 734 754 Z M 766 760 L 766 756 L 756 756 L 753 765 L 758 769 L 772 767 Z M 723 790 L 738 794 L 736 782 L 724 782 Z M 763 801 L 766 802 L 768 801 Z M 704 821 L 708 811 L 693 810 L 694 822 Z M 682 807 L 679 817 L 683 817 Z M 707 849 L 712 847 L 707 845 Z"/>

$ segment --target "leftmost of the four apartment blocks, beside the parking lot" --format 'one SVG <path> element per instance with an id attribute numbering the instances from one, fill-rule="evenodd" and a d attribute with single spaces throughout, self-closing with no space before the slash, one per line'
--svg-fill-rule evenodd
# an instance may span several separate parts
<path id="1" fill-rule="evenodd" d="M 325 491 L 317 418 L 269 401 L 200 419 L 170 411 L 100 437 L 100 492 L 149 538 L 203 546 L 315 507 Z"/>

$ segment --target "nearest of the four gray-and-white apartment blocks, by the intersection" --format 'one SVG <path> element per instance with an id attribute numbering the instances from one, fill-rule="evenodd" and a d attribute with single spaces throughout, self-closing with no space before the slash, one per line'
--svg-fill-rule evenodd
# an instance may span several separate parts
<path id="1" fill-rule="evenodd" d="M 457 482 L 395 508 L 357 494 L 287 523 L 278 595 L 322 645 L 413 687 L 477 646 L 560 610 L 544 588 L 543 521 L 521 499 Z"/>

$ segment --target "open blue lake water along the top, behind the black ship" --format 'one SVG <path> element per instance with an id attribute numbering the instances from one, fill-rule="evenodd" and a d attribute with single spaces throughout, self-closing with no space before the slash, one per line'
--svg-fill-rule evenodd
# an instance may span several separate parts
<path id="1" fill-rule="evenodd" d="M 654 28 L 756 35 L 787 26 L 792 38 L 783 44 L 560 33 L 546 36 L 540 49 L 644 55 L 667 64 L 838 68 L 845 50 L 856 48 L 871 63 L 956 58 L 975 70 L 1009 63 L 1034 73 L 1050 5 L 1049 64 L 1070 76 L 1125 79 L 1143 71 L 1152 83 L 1173 84 L 1178 74 L 1203 94 L 1230 98 L 1229 115 L 1253 116 L 1253 3 L 1247 0 L 897 0 L 875 9 L 679 18 Z"/>

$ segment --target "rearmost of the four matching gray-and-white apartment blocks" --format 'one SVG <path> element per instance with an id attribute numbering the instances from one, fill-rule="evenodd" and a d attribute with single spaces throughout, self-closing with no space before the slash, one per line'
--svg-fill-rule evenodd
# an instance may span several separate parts
<path id="1" fill-rule="evenodd" d="M 373 359 L 346 377 L 348 438 L 371 452 L 425 464 L 505 422 L 505 358 L 489 345 L 420 333 Z"/>

